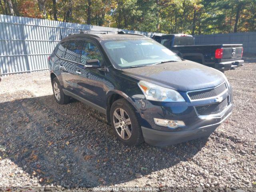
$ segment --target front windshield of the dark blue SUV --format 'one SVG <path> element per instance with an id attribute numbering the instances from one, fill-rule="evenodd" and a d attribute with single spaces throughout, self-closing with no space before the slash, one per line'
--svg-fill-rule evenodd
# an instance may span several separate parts
<path id="1" fill-rule="evenodd" d="M 172 51 L 158 42 L 146 40 L 110 40 L 103 42 L 116 68 L 131 68 L 166 61 L 181 61 Z"/>

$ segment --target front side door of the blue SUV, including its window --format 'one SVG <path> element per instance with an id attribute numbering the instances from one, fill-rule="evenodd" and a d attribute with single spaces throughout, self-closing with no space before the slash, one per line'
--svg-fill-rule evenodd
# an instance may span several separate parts
<path id="1" fill-rule="evenodd" d="M 84 68 L 87 60 L 98 59 L 100 68 Z M 91 41 L 84 41 L 80 64 L 76 70 L 80 73 L 77 78 L 78 95 L 89 102 L 92 102 L 102 108 L 106 107 L 104 89 L 105 68 L 102 54 L 96 44 Z"/>

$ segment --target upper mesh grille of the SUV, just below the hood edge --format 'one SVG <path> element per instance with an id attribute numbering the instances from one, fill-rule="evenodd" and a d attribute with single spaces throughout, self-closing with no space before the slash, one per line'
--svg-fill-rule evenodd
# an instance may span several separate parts
<path id="1" fill-rule="evenodd" d="M 191 100 L 215 97 L 215 96 L 218 96 L 219 94 L 223 93 L 226 89 L 227 89 L 226 83 L 223 83 L 220 86 L 217 86 L 212 89 L 189 92 L 188 96 L 190 97 Z"/>

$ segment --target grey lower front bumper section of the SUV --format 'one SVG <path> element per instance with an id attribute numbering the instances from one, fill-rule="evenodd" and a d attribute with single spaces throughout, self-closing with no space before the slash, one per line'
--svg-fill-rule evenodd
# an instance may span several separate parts
<path id="1" fill-rule="evenodd" d="M 231 104 L 228 110 L 226 110 L 226 112 L 220 117 L 214 117 L 211 120 L 203 120 L 206 123 L 211 122 L 210 124 L 200 126 L 192 130 L 170 132 L 155 130 L 142 126 L 144 140 L 146 143 L 153 146 L 167 146 L 194 140 L 197 138 L 208 137 L 224 120 L 226 120 L 231 115 L 232 107 L 233 106 Z"/>

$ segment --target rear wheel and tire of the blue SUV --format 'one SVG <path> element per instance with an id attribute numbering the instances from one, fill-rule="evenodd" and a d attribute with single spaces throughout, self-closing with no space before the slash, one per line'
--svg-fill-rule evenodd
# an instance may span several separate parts
<path id="1" fill-rule="evenodd" d="M 56 95 L 56 92 L 54 92 L 54 90 L 58 88 L 59 89 L 59 95 L 57 96 Z M 70 102 L 70 96 L 66 96 L 60 86 L 60 82 L 58 81 L 58 79 L 55 77 L 53 80 L 52 80 L 52 91 L 53 91 L 53 95 L 54 95 L 54 98 L 56 100 L 56 102 L 58 104 L 68 104 Z"/>

